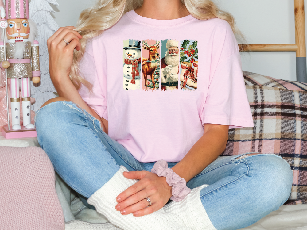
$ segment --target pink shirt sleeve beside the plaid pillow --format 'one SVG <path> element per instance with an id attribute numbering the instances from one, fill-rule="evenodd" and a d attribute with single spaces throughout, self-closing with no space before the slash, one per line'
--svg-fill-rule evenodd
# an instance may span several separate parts
<path id="1" fill-rule="evenodd" d="M 209 83 L 203 124 L 253 127 L 239 50 L 220 61 Z"/>

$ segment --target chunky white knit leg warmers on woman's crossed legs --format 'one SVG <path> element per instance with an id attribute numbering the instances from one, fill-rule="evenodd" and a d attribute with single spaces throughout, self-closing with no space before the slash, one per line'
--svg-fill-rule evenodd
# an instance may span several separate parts
<path id="1" fill-rule="evenodd" d="M 171 202 L 162 209 L 143 217 L 134 217 L 132 213 L 122 215 L 116 211 L 116 197 L 137 180 L 127 179 L 121 166 L 119 171 L 87 200 L 97 212 L 103 214 L 114 225 L 124 230 L 216 230 L 200 201 L 200 190 L 195 188 L 180 202 Z"/>

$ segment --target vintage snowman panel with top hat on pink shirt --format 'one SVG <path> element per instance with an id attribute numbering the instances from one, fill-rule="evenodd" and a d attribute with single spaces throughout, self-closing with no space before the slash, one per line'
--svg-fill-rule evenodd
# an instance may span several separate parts
<path id="1" fill-rule="evenodd" d="M 125 40 L 123 45 L 123 86 L 125 90 L 138 90 L 141 86 L 141 42 Z"/>

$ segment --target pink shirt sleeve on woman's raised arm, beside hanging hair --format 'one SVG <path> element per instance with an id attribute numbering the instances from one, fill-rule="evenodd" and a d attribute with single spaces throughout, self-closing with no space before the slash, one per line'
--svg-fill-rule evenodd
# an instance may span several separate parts
<path id="1" fill-rule="evenodd" d="M 92 90 L 89 91 L 82 85 L 79 90 L 81 97 L 89 107 L 95 110 L 99 117 L 103 117 L 107 120 L 106 86 L 103 81 L 103 75 L 98 73 L 95 66 L 92 42 L 86 45 L 86 51 L 79 63 L 79 68 L 81 77 L 86 79 L 93 86 Z"/>

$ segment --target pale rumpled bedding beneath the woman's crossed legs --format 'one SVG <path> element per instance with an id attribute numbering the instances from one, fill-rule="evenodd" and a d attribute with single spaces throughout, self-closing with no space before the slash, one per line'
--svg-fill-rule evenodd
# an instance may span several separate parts
<path id="1" fill-rule="evenodd" d="M 63 182 L 58 175 L 56 175 L 56 192 L 64 212 L 65 230 L 118 229 L 111 225 L 101 224 L 108 222 L 106 217 L 100 215 L 95 210 L 87 208 L 76 194 L 71 193 L 70 191 L 69 186 Z M 307 230 L 307 205 L 282 205 L 277 211 L 270 213 L 257 223 L 242 229 Z"/>

